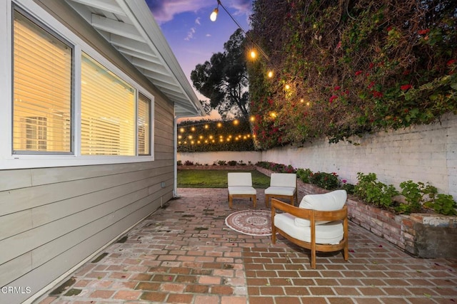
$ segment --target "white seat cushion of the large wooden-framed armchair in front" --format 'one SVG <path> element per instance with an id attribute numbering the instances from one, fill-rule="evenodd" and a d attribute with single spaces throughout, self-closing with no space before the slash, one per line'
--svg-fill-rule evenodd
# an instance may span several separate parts
<path id="1" fill-rule="evenodd" d="M 291 214 L 276 214 L 274 226 L 295 239 L 311 243 L 311 227 L 296 226 L 295 219 L 296 217 Z M 316 243 L 337 244 L 343 239 L 343 235 L 343 223 L 341 221 L 316 225 Z"/>

